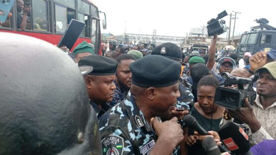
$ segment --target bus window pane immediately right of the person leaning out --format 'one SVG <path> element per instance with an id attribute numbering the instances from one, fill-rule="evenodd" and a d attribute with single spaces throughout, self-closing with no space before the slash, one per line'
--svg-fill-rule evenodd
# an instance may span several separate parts
<path id="1" fill-rule="evenodd" d="M 47 1 L 32 1 L 33 28 L 36 31 L 49 31 Z"/>

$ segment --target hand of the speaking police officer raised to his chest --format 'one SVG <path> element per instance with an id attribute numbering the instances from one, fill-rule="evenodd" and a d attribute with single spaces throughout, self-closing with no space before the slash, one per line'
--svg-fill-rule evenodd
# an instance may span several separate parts
<path id="1" fill-rule="evenodd" d="M 183 130 L 180 124 L 177 123 L 176 117 L 162 123 L 156 118 L 151 118 L 150 124 L 154 128 L 158 139 L 164 140 L 174 147 L 184 139 Z"/>

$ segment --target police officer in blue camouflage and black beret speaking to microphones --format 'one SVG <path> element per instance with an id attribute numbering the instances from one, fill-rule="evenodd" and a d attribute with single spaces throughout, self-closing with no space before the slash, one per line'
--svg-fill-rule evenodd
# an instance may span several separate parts
<path id="1" fill-rule="evenodd" d="M 185 115 L 175 111 L 181 64 L 149 55 L 132 63 L 130 69 L 130 93 L 100 118 L 103 155 L 177 154 L 184 136 L 172 113 Z M 168 121 L 157 123 L 152 119 L 156 116 Z"/>

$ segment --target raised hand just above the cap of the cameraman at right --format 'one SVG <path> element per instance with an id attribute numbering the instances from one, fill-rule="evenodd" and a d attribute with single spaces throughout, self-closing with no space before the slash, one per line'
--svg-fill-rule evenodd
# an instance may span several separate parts
<path id="1" fill-rule="evenodd" d="M 267 63 L 267 51 L 261 51 L 249 58 L 250 70 L 255 72 Z"/>

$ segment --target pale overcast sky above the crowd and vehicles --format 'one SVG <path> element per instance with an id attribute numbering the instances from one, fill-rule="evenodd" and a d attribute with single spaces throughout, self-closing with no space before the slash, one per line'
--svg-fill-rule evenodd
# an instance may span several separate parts
<path id="1" fill-rule="evenodd" d="M 264 0 L 93 0 L 99 10 L 106 13 L 107 29 L 102 33 L 115 35 L 126 33 L 186 36 L 190 28 L 207 26 L 207 21 L 226 10 L 226 26 L 230 13 L 237 14 L 235 34 L 249 31 L 257 26 L 257 18 L 267 18 L 276 27 L 276 8 L 271 1 Z M 233 12 L 232 12 L 233 13 Z M 101 16 L 103 17 L 103 16 Z M 234 17 L 234 16 L 232 16 Z M 231 36 L 233 33 L 232 20 Z M 226 32 L 221 35 L 225 37 Z"/>

